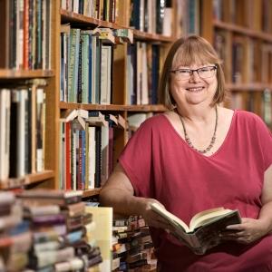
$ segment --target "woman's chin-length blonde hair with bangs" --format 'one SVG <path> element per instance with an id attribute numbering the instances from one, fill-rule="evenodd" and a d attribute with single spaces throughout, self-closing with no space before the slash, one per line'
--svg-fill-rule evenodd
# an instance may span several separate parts
<path id="1" fill-rule="evenodd" d="M 217 66 L 218 89 L 212 105 L 225 101 L 228 96 L 222 63 L 213 47 L 207 40 L 197 35 L 180 38 L 170 48 L 163 64 L 158 85 L 158 102 L 168 110 L 176 105 L 170 92 L 170 71 L 177 66 L 189 66 L 194 63 L 215 63 Z"/>

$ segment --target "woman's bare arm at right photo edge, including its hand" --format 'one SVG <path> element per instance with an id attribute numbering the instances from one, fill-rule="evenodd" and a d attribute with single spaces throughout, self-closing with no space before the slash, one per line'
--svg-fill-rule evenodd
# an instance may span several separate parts
<path id="1" fill-rule="evenodd" d="M 242 219 L 242 224 L 228 226 L 220 236 L 237 240 L 239 243 L 249 244 L 272 232 L 272 165 L 265 172 L 264 187 L 258 219 Z"/>

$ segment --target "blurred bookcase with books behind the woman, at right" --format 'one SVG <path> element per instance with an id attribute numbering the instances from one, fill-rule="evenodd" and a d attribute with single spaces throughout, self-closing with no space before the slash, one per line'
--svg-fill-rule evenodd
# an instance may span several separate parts
<path id="1" fill-rule="evenodd" d="M 225 106 L 257 113 L 271 130 L 271 3 L 211 0 L 201 6 L 202 34 L 225 63 Z"/>

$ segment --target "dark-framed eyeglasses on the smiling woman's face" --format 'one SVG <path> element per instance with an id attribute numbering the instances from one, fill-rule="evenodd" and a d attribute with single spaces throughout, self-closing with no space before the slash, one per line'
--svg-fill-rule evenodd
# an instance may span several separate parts
<path id="1" fill-rule="evenodd" d="M 217 66 L 206 66 L 195 70 L 177 69 L 174 71 L 170 71 L 170 73 L 174 73 L 178 81 L 186 81 L 189 80 L 194 72 L 197 72 L 199 74 L 199 77 L 202 79 L 213 77 L 216 69 Z"/>

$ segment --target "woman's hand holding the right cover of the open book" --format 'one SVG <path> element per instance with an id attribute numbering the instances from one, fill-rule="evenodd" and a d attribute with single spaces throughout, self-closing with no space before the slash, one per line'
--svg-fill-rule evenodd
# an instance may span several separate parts
<path id="1" fill-rule="evenodd" d="M 229 225 L 220 233 L 220 237 L 229 238 L 241 244 L 250 244 L 266 234 L 262 220 L 243 218 L 241 224 Z"/>

